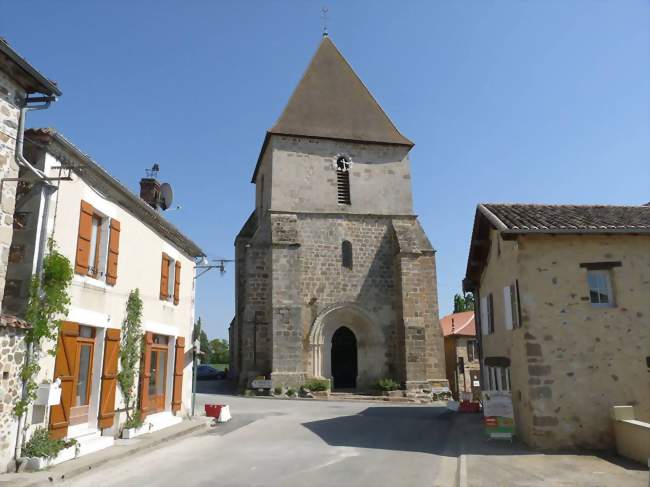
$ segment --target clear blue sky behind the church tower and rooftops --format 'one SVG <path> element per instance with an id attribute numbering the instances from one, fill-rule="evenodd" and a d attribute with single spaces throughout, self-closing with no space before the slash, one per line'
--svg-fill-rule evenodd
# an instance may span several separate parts
<path id="1" fill-rule="evenodd" d="M 441 315 L 478 202 L 650 201 L 650 3 L 329 1 L 332 39 L 411 152 Z M 320 41 L 321 2 L 0 0 L 0 35 L 63 97 L 30 115 L 134 191 L 153 162 L 210 257 L 233 256 L 250 177 Z M 226 337 L 233 269 L 198 281 Z"/>

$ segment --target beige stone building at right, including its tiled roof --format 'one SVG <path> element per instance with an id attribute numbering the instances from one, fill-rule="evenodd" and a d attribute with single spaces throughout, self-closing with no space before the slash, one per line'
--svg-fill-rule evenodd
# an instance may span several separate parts
<path id="1" fill-rule="evenodd" d="M 650 206 L 479 205 L 463 286 L 526 443 L 612 448 L 612 406 L 650 421 Z"/>

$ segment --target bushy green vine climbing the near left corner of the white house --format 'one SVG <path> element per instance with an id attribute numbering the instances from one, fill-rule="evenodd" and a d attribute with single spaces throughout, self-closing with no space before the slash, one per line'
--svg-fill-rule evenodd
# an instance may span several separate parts
<path id="1" fill-rule="evenodd" d="M 30 328 L 25 333 L 27 356 L 20 371 L 24 385 L 24 393 L 14 406 L 14 414 L 21 417 L 29 405 L 36 399 L 35 377 L 41 370 L 40 353 L 59 335 L 61 317 L 67 315 L 70 305 L 68 288 L 72 282 L 73 270 L 70 261 L 56 250 L 52 239 L 48 241 L 48 254 L 43 259 L 41 277 L 32 276 L 29 286 L 29 297 L 25 309 L 25 321 Z M 47 350 L 50 355 L 56 355 L 56 349 Z"/>

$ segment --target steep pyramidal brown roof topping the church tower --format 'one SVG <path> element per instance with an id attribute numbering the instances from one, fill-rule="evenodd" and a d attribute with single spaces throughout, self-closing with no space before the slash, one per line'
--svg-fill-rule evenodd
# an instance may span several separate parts
<path id="1" fill-rule="evenodd" d="M 267 131 L 253 182 L 273 134 L 413 146 L 329 37 L 323 37 L 282 115 Z"/>

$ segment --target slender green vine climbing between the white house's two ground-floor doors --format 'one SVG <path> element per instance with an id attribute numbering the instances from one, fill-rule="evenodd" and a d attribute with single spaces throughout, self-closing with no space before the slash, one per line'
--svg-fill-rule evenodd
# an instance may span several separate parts
<path id="1" fill-rule="evenodd" d="M 139 418 L 138 413 L 131 414 L 135 403 L 136 374 L 140 364 L 142 347 L 142 299 L 140 291 L 136 289 L 129 293 L 126 302 L 126 318 L 122 323 L 122 343 L 120 344 L 120 372 L 117 382 L 122 390 L 124 409 L 126 410 L 127 424 Z M 136 421 L 137 422 L 137 421 Z"/>

